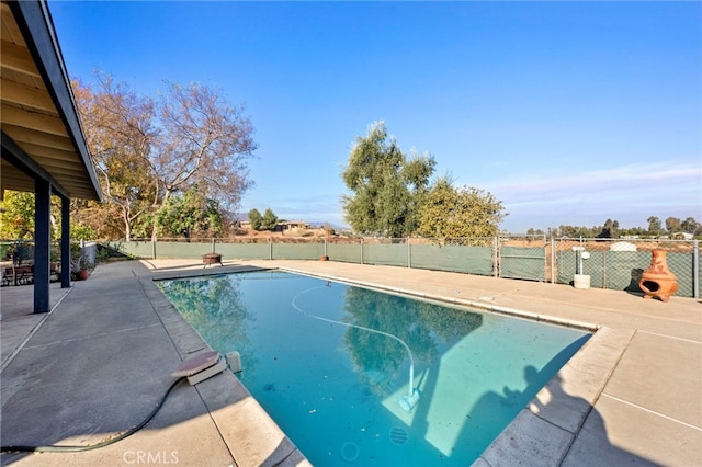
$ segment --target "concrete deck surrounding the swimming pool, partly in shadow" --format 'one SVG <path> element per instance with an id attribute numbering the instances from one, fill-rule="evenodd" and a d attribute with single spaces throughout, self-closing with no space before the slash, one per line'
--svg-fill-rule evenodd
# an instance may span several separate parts
<path id="1" fill-rule="evenodd" d="M 702 300 L 331 261 L 113 263 L 70 289 L 53 285 L 48 315 L 29 312 L 31 286 L 3 287 L 1 444 L 91 444 L 140 422 L 176 366 L 206 350 L 151 278 L 257 266 L 598 327 L 476 465 L 702 464 Z M 307 464 L 237 383 L 225 372 L 178 386 L 151 423 L 110 446 L 0 462 Z"/>

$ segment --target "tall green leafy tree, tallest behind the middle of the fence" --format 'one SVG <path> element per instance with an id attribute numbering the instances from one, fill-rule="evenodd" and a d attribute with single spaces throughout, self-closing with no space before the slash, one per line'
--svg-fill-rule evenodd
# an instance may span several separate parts
<path id="1" fill-rule="evenodd" d="M 342 196 L 346 220 L 361 234 L 400 237 L 417 228 L 417 206 L 426 193 L 435 161 L 414 155 L 408 161 L 385 123 L 359 136 L 341 176 L 353 192 Z"/>

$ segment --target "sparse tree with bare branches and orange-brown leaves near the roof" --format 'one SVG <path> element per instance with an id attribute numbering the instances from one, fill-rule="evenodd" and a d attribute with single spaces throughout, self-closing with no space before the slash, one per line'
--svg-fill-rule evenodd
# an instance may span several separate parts
<path id="1" fill-rule="evenodd" d="M 157 231 L 157 213 L 174 193 L 197 186 L 224 210 L 235 210 L 252 186 L 247 160 L 257 145 L 241 109 L 227 104 L 218 90 L 167 83 L 158 99 L 138 96 L 106 73 L 98 84 L 75 81 L 75 94 L 94 158 L 106 205 L 84 205 L 98 219 L 118 213 L 123 235 Z M 104 210 L 103 210 L 104 209 Z M 110 216 L 104 215 L 110 210 Z"/>

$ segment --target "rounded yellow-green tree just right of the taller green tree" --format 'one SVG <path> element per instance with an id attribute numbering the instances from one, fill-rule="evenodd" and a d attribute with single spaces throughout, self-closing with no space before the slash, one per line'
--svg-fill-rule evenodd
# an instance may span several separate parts
<path id="1" fill-rule="evenodd" d="M 454 187 L 439 179 L 419 206 L 419 235 L 449 238 L 494 237 L 507 216 L 502 203 L 472 186 Z"/>

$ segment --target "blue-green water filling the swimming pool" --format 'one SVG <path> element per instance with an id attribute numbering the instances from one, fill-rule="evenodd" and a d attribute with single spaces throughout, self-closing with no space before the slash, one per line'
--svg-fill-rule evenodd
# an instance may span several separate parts
<path id="1" fill-rule="evenodd" d="M 590 335 L 279 271 L 159 287 L 320 466 L 469 464 Z"/>

